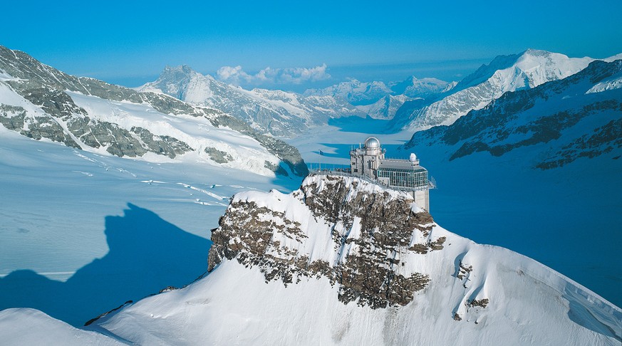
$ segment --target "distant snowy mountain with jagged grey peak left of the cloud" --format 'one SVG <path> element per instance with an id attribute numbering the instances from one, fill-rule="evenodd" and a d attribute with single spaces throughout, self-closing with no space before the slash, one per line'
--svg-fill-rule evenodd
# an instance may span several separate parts
<path id="1" fill-rule="evenodd" d="M 256 130 L 285 137 L 326 124 L 332 117 L 365 116 L 346 101 L 331 96 L 305 97 L 282 90 L 244 90 L 211 75 L 197 73 L 186 65 L 165 68 L 157 80 L 137 90 L 164 93 L 192 105 L 222 110 Z"/>

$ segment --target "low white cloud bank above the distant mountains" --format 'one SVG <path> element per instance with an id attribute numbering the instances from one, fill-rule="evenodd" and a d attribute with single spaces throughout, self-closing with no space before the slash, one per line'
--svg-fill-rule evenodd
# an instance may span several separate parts
<path id="1" fill-rule="evenodd" d="M 326 73 L 326 64 L 313 68 L 264 68 L 254 75 L 246 73 L 242 66 L 223 66 L 219 68 L 217 78 L 234 85 L 241 84 L 301 84 L 326 80 L 331 75 Z"/>

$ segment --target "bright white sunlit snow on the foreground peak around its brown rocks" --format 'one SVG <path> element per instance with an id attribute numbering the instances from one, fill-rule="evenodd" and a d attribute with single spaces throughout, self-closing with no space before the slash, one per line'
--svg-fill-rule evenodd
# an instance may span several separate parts
<path id="1" fill-rule="evenodd" d="M 321 177 L 306 182 L 321 185 Z M 352 179 L 352 178 L 346 178 Z M 346 182 L 346 184 L 350 184 Z M 358 182 L 356 191 L 383 193 Z M 388 192 L 391 198 L 403 198 Z M 332 227 L 303 200 L 279 192 L 241 193 L 237 200 L 283 213 L 300 224 L 301 243 L 287 247 L 300 256 L 336 263 Z M 356 229 L 357 222 L 354 220 Z M 327 278 L 301 278 L 285 286 L 265 282 L 259 267 L 220 264 L 207 278 L 182 290 L 141 300 L 96 323 L 141 345 L 617 345 L 622 310 L 581 285 L 505 248 L 473 243 L 434 225 L 432 238 L 445 248 L 425 255 L 400 253 L 396 273 L 414 271 L 430 285 L 400 308 L 373 310 L 338 300 Z M 351 234 L 356 237 L 356 235 Z M 288 241 L 275 234 L 274 241 Z M 349 250 L 348 250 L 349 251 Z M 278 256 L 278 255 L 277 255 Z M 459 263 L 472 266 L 465 281 Z M 489 299 L 486 308 L 466 300 Z M 454 320 L 454 313 L 461 320 Z"/>

